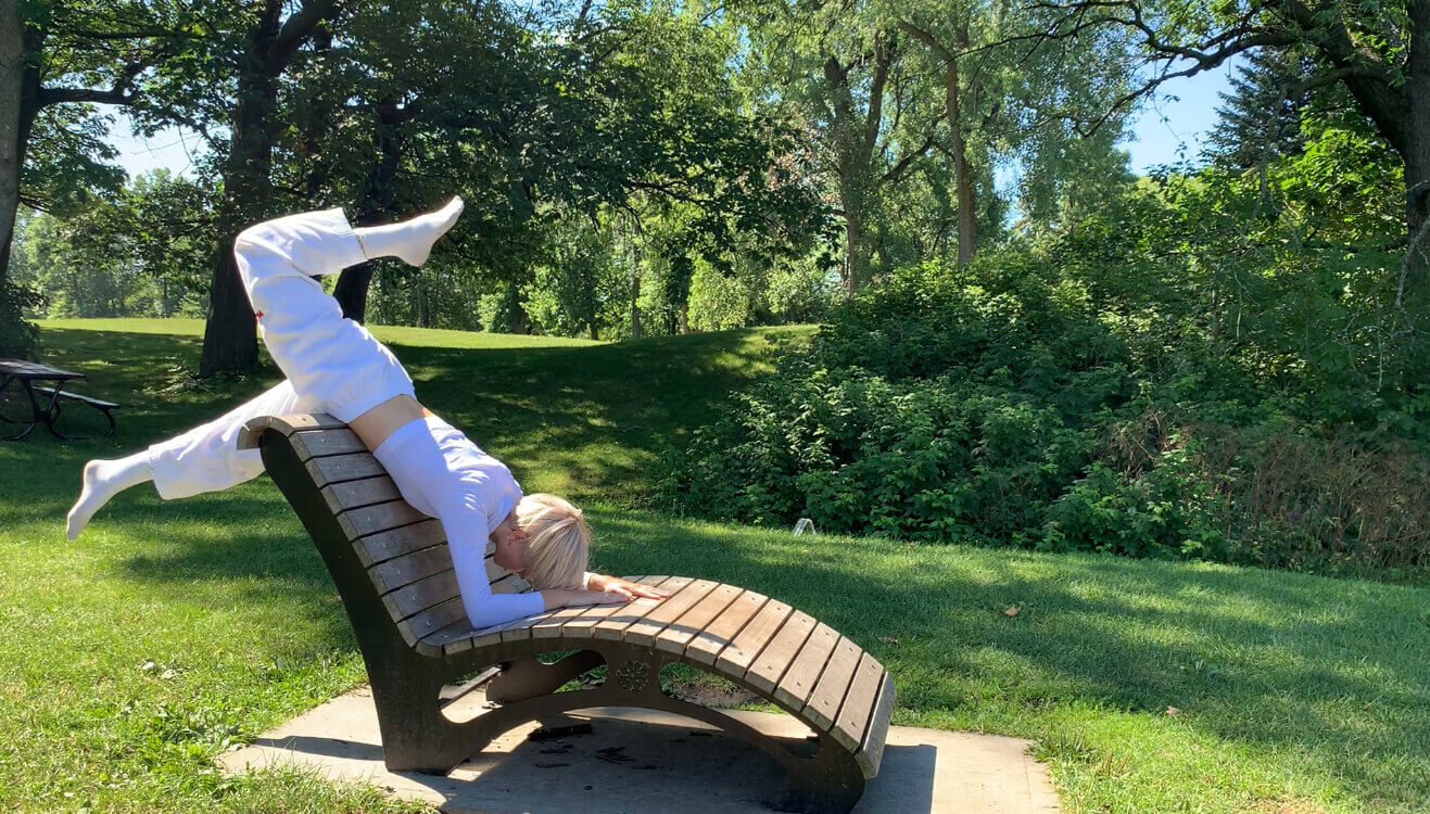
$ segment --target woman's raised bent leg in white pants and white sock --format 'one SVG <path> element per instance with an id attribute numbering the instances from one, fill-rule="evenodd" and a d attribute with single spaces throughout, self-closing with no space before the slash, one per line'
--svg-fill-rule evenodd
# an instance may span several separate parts
<path id="1" fill-rule="evenodd" d="M 245 229 L 233 243 L 259 333 L 315 409 L 350 422 L 396 395 L 413 395 L 398 359 L 362 325 L 345 319 L 337 300 L 313 276 L 380 256 L 426 260 L 462 212 L 460 199 L 403 223 L 353 230 L 339 209 L 290 215 Z"/>

